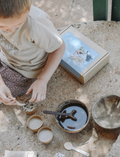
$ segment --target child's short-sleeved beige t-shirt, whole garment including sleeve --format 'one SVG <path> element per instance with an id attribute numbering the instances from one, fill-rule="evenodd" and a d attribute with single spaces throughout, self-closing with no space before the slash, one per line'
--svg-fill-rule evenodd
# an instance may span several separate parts
<path id="1" fill-rule="evenodd" d="M 27 19 L 14 33 L 0 31 L 0 58 L 23 76 L 36 78 L 48 54 L 58 49 L 62 42 L 48 15 L 31 6 Z"/>

